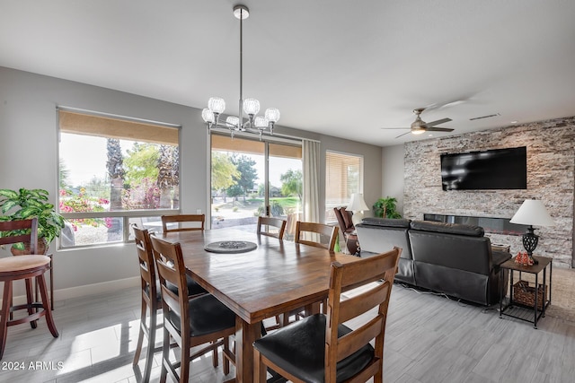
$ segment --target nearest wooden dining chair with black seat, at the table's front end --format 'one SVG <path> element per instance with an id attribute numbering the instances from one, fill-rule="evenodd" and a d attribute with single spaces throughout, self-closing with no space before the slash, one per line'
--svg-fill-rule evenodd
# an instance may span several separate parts
<path id="1" fill-rule="evenodd" d="M 385 321 L 401 252 L 394 248 L 345 265 L 333 262 L 327 314 L 304 318 L 255 341 L 254 381 L 265 382 L 270 368 L 296 383 L 366 382 L 371 377 L 381 383 Z M 354 293 L 344 296 L 350 289 Z M 343 325 L 359 316 L 357 328 Z"/>

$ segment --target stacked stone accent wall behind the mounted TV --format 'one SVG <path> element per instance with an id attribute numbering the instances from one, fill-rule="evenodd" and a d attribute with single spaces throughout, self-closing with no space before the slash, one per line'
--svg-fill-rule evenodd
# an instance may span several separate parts
<path id="1" fill-rule="evenodd" d="M 526 146 L 526 190 L 452 190 L 441 188 L 440 154 Z M 535 255 L 553 264 L 573 265 L 575 117 L 506 126 L 464 135 L 405 144 L 403 215 L 422 220 L 423 213 L 510 218 L 527 198 L 541 199 L 555 225 L 535 231 Z M 492 243 L 523 250 L 520 236 L 488 234 Z"/>

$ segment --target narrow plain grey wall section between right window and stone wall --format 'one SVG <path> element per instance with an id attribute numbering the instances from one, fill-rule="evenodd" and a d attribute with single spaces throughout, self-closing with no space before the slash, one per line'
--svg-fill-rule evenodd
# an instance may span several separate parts
<path id="1" fill-rule="evenodd" d="M 381 153 L 382 184 L 381 196 L 397 199 L 397 211 L 403 216 L 403 144 L 385 146 Z"/>

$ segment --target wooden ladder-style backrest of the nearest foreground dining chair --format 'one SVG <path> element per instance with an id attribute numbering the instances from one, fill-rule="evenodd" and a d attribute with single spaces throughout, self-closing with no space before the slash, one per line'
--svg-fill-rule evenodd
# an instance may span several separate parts
<path id="1" fill-rule="evenodd" d="M 387 309 L 401 253 L 401 248 L 394 248 L 345 265 L 332 263 L 325 328 L 326 382 L 335 381 L 338 361 L 357 352 L 372 339 L 376 340 L 374 360 L 358 375 L 365 379 L 359 380 L 365 381 L 382 368 Z M 358 290 L 350 293 L 349 297 L 341 296 L 351 288 Z M 366 314 L 374 308 L 377 309 L 373 315 Z M 367 323 L 338 337 L 338 326 L 360 315 L 370 316 Z"/>

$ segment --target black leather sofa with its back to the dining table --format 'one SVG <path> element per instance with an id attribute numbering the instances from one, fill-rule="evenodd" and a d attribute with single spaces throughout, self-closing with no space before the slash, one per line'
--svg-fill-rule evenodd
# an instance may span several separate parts
<path id="1" fill-rule="evenodd" d="M 398 282 L 486 306 L 500 300 L 500 265 L 511 255 L 493 250 L 479 226 L 366 218 L 356 230 L 362 257 L 403 248 Z"/>

